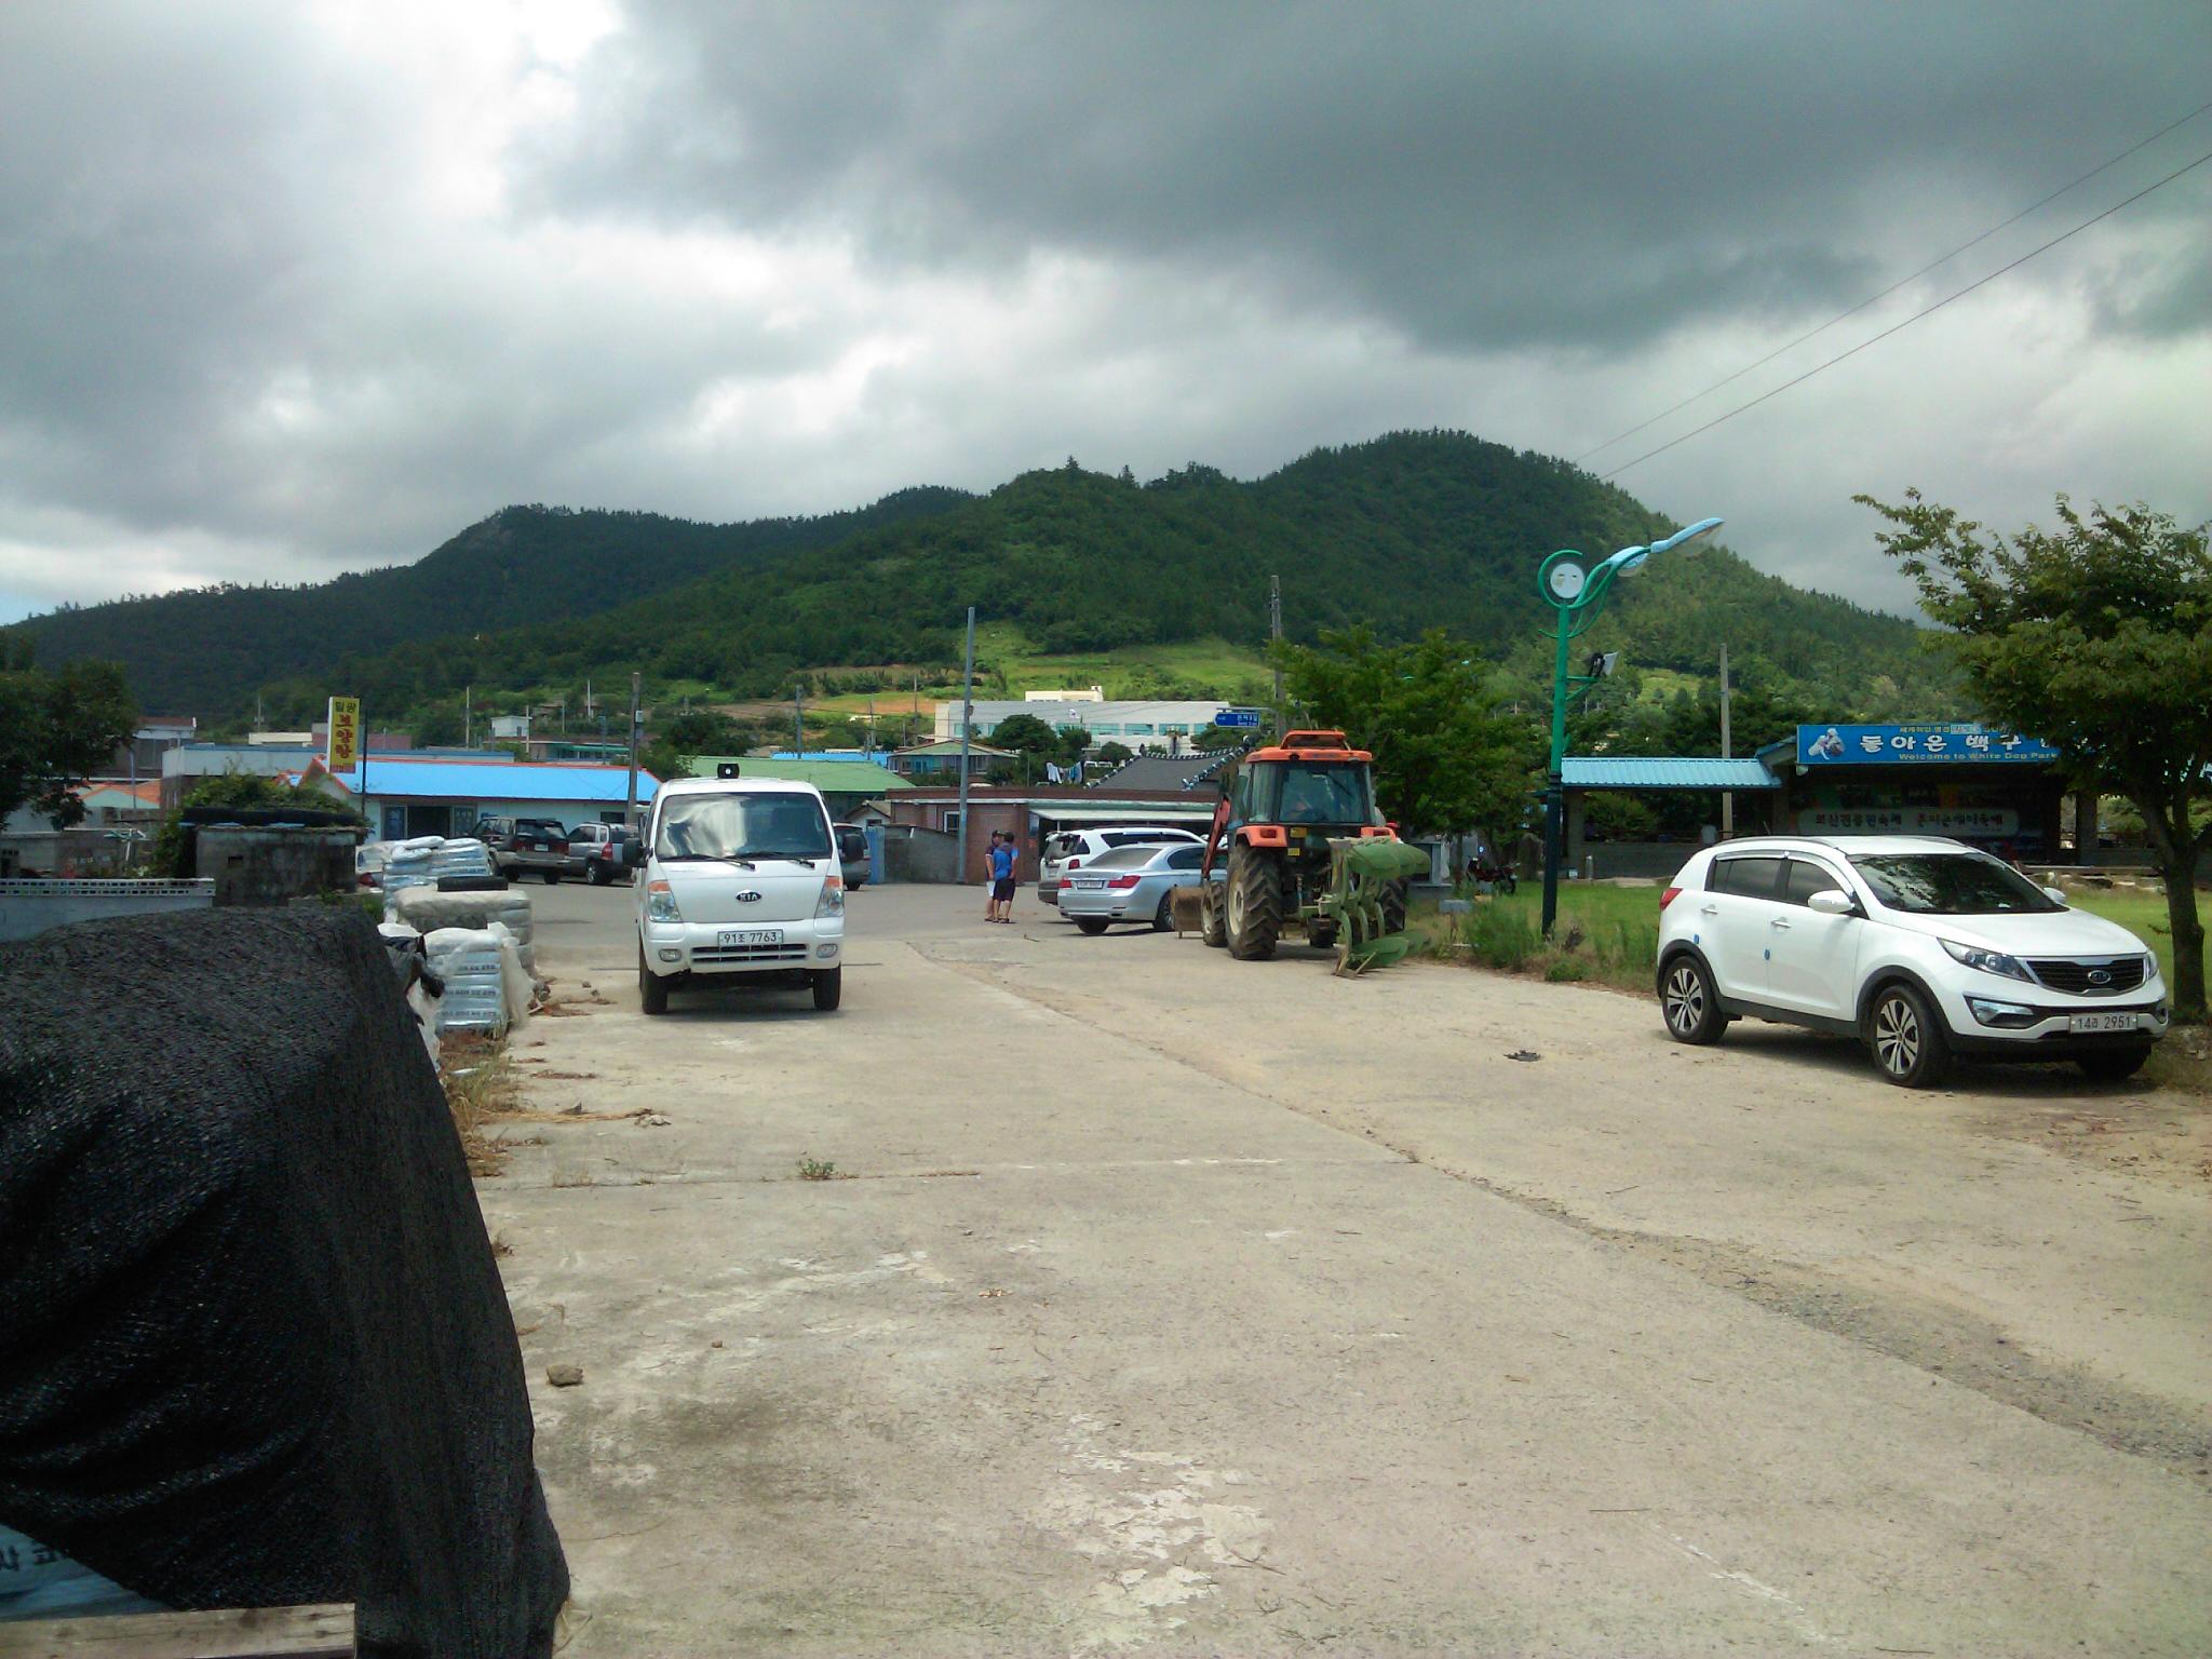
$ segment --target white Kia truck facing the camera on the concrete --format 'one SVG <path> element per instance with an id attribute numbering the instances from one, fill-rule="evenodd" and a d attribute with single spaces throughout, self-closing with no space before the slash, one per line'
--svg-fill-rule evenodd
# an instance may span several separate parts
<path id="1" fill-rule="evenodd" d="M 774 975 L 834 1009 L 845 878 L 812 783 L 677 779 L 653 796 L 637 878 L 637 993 L 668 1013 L 692 980 Z"/>

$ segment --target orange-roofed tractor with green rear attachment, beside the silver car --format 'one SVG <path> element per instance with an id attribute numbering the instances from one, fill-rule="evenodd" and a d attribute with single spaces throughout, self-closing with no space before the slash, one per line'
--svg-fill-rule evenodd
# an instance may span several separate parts
<path id="1" fill-rule="evenodd" d="M 1303 925 L 1307 945 L 1338 947 L 1340 969 L 1396 962 L 1407 951 L 1407 883 L 1427 869 L 1429 854 L 1398 841 L 1376 810 L 1374 754 L 1343 732 L 1287 732 L 1221 779 L 1199 938 L 1263 962 L 1287 925 Z"/>

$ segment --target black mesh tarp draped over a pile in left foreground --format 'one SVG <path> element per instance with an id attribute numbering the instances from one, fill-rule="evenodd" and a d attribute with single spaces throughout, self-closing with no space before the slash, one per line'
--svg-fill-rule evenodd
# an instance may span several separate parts
<path id="1" fill-rule="evenodd" d="M 568 1568 L 460 1141 L 352 909 L 0 945 L 0 1522 L 179 1608 L 542 1655 Z"/>

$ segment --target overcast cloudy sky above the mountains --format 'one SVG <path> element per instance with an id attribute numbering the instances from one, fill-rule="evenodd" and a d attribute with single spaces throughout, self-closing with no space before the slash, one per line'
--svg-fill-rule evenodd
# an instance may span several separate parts
<path id="1" fill-rule="evenodd" d="M 0 619 L 1068 453 L 1579 458 L 2212 97 L 2174 4 L 0 9 Z M 2212 150 L 2199 115 L 1586 465 Z M 2212 164 L 1619 482 L 1905 608 L 1854 491 L 2212 515 Z M 1531 549 L 1531 568 L 1548 549 Z"/>

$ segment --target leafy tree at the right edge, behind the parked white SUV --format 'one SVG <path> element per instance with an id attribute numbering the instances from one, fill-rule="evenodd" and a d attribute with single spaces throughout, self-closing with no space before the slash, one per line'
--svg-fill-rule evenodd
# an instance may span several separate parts
<path id="1" fill-rule="evenodd" d="M 1863 504 L 1896 529 L 1882 551 L 1949 633 L 1982 712 L 2066 757 L 2075 783 L 2126 796 L 2166 880 L 2174 1015 L 2205 1018 L 2197 867 L 2212 847 L 2212 553 L 2205 526 L 2148 507 L 2057 498 L 2059 529 L 1984 533 L 1907 491 Z"/>

